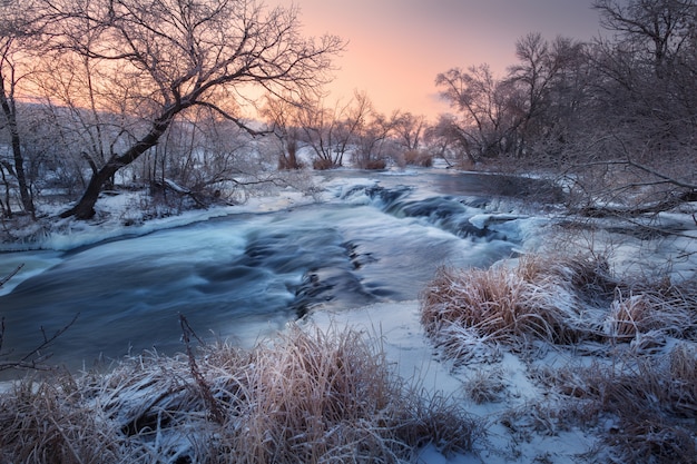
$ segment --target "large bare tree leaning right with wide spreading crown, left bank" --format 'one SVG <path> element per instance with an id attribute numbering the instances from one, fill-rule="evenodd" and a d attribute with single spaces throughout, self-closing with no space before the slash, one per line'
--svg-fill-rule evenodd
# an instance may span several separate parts
<path id="1" fill-rule="evenodd" d="M 335 36 L 304 38 L 296 9 L 268 9 L 256 0 L 41 1 L 52 66 L 80 62 L 90 77 L 85 105 L 109 111 L 118 95 L 124 113 L 138 121 L 109 144 L 104 164 L 62 217 L 92 217 L 102 187 L 185 111 L 206 107 L 245 128 L 243 103 L 268 92 L 318 89 L 343 48 Z M 61 72 L 65 79 L 70 69 L 51 75 Z"/>

